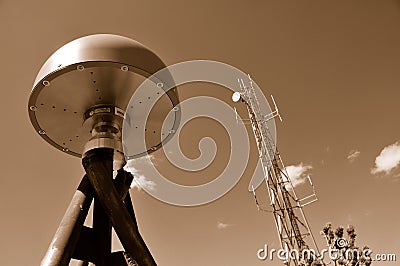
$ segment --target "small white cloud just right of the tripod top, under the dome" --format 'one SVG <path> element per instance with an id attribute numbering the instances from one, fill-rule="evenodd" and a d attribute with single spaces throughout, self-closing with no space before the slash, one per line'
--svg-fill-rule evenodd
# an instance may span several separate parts
<path id="1" fill-rule="evenodd" d="M 141 174 L 138 170 L 141 164 L 152 163 L 152 155 L 147 155 L 144 157 L 140 157 L 138 159 L 129 160 L 124 169 L 128 172 L 131 172 L 134 176 L 134 179 L 131 184 L 131 188 L 137 188 L 141 190 L 142 188 L 146 188 L 148 190 L 155 190 L 156 183 L 149 180 L 145 175 Z"/>

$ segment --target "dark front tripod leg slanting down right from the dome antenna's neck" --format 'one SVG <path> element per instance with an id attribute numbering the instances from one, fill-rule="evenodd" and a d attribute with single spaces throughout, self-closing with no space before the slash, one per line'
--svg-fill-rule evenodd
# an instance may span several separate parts
<path id="1" fill-rule="evenodd" d="M 136 223 L 133 222 L 113 185 L 113 154 L 113 149 L 94 149 L 87 152 L 82 159 L 82 164 L 98 200 L 127 253 L 134 258 L 139 266 L 156 266 L 156 262 L 143 239 L 139 237 Z"/>

